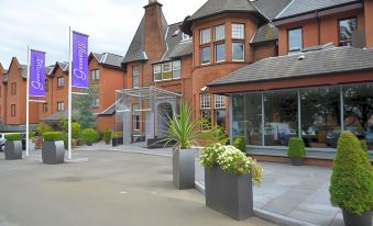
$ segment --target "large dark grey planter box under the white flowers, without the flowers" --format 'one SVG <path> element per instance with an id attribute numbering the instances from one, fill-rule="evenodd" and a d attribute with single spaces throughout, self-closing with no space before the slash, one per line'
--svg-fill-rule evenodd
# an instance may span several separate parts
<path id="1" fill-rule="evenodd" d="M 251 174 L 230 176 L 219 167 L 205 168 L 206 205 L 237 221 L 253 216 Z"/>

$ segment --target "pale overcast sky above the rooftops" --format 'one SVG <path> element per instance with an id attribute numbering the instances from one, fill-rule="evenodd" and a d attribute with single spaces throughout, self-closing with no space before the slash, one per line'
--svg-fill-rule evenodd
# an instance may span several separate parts
<path id="1" fill-rule="evenodd" d="M 168 24 L 207 0 L 158 0 Z M 149 0 L 0 0 L 0 63 L 28 61 L 28 45 L 46 52 L 46 64 L 68 60 L 68 27 L 89 34 L 89 50 L 124 55 Z"/>

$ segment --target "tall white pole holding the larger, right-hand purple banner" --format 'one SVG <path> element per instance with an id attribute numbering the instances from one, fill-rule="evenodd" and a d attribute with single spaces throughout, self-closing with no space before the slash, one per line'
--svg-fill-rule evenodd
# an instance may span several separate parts
<path id="1" fill-rule="evenodd" d="M 68 57 L 69 57 L 69 60 L 68 60 L 68 64 L 69 64 L 69 79 L 68 79 L 68 159 L 72 159 L 72 114 L 73 114 L 73 111 L 72 111 L 72 101 L 73 101 L 73 98 L 72 98 L 72 80 L 73 80 L 73 41 L 72 41 L 72 27 L 69 26 L 68 27 L 68 34 L 69 34 L 69 54 L 68 54 Z"/>

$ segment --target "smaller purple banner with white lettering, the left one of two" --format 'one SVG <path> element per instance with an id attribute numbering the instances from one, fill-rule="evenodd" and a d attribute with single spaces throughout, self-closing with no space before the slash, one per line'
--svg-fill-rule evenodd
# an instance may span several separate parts
<path id="1" fill-rule="evenodd" d="M 29 93 L 45 97 L 45 53 L 31 49 Z"/>

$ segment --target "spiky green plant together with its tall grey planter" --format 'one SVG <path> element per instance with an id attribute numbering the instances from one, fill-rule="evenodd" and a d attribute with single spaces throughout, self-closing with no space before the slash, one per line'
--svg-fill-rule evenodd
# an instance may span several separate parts
<path id="1" fill-rule="evenodd" d="M 168 118 L 166 145 L 175 142 L 173 151 L 173 181 L 178 189 L 195 188 L 195 158 L 196 149 L 193 143 L 200 137 L 200 121 L 191 118 L 191 109 L 182 102 L 179 114 Z"/>

